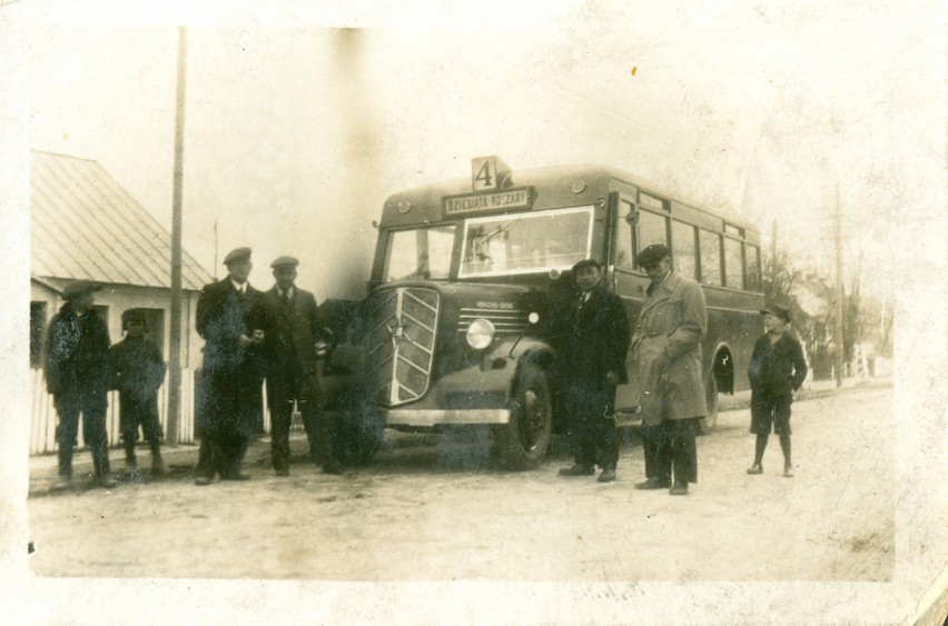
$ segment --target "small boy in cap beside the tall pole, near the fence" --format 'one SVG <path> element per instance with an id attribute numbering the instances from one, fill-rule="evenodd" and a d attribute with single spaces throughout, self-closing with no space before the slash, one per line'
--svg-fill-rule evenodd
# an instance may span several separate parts
<path id="1" fill-rule="evenodd" d="M 158 423 L 158 388 L 165 379 L 165 361 L 158 346 L 145 337 L 145 312 L 121 314 L 126 337 L 109 349 L 111 389 L 119 393 L 119 427 L 125 444 L 125 464 L 136 475 L 135 443 L 138 428 L 151 449 L 151 474 L 165 474 L 161 460 L 161 425 Z"/>

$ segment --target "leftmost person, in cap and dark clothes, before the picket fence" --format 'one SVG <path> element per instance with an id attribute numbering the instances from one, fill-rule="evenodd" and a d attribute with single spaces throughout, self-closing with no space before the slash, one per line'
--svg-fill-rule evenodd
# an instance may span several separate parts
<path id="1" fill-rule="evenodd" d="M 72 453 L 82 414 L 82 438 L 92 451 L 93 484 L 112 488 L 106 408 L 109 389 L 109 330 L 92 309 L 100 286 L 75 280 L 62 291 L 66 304 L 47 332 L 46 385 L 59 415 L 59 480 L 55 489 L 72 484 Z"/>

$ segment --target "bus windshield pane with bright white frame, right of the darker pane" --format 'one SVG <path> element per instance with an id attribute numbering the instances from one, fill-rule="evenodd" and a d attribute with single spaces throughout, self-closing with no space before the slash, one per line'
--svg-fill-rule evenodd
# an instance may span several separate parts
<path id="1" fill-rule="evenodd" d="M 473 218 L 458 278 L 567 270 L 589 257 L 593 207 Z"/>

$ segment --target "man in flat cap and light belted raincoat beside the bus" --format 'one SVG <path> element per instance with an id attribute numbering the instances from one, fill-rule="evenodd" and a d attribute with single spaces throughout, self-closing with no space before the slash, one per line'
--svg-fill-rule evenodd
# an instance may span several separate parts
<path id="1" fill-rule="evenodd" d="M 708 415 L 701 372 L 704 294 L 672 270 L 665 246 L 646 247 L 635 265 L 652 279 L 632 334 L 645 453 L 645 480 L 635 487 L 670 488 L 671 495 L 683 496 L 688 484 L 698 480 L 694 437 L 700 418 Z"/>

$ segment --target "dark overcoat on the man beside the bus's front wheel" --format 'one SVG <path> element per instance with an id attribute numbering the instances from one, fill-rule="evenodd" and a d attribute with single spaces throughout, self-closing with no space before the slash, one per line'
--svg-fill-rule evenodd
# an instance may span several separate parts
<path id="1" fill-rule="evenodd" d="M 614 371 L 620 384 L 629 382 L 629 321 L 622 299 L 596 287 L 582 305 L 576 297 L 569 320 L 557 355 L 562 380 L 569 386 L 602 389 L 606 372 Z"/>

